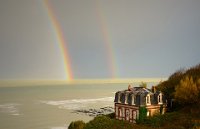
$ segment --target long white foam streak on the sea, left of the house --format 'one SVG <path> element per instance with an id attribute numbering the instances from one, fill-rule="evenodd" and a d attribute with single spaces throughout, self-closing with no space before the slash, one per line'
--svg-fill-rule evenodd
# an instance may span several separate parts
<path id="1" fill-rule="evenodd" d="M 104 97 L 97 99 L 72 99 L 72 100 L 58 100 L 58 101 L 40 101 L 41 103 L 58 106 L 62 109 L 80 109 L 86 107 L 87 104 L 99 102 L 113 102 L 113 97 Z"/>

